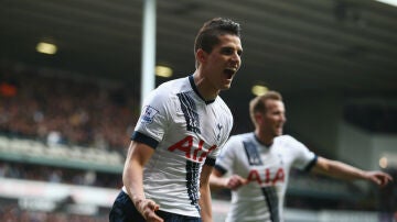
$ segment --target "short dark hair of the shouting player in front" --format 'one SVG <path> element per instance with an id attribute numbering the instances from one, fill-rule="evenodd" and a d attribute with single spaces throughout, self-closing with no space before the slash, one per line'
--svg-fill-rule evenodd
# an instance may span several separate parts
<path id="1" fill-rule="evenodd" d="M 203 24 L 194 41 L 194 53 L 202 48 L 211 53 L 219 43 L 219 35 L 232 34 L 240 37 L 240 25 L 230 19 L 214 18 Z"/>

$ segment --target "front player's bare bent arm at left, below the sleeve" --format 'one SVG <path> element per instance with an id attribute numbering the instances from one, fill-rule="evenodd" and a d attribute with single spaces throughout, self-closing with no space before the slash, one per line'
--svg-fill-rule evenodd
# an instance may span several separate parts
<path id="1" fill-rule="evenodd" d="M 132 141 L 128 148 L 122 171 L 122 182 L 128 196 L 143 218 L 147 221 L 162 222 L 163 220 L 154 213 L 159 206 L 154 201 L 146 199 L 143 192 L 143 166 L 153 153 L 154 149 L 152 147 Z"/>

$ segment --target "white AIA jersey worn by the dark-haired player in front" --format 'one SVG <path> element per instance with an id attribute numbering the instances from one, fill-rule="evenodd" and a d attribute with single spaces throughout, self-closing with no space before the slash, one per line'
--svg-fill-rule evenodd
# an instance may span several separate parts
<path id="1" fill-rule="evenodd" d="M 131 140 L 155 148 L 143 171 L 143 190 L 160 210 L 200 217 L 200 174 L 215 165 L 233 126 L 233 115 L 217 97 L 204 101 L 193 76 L 168 81 L 143 102 Z"/>

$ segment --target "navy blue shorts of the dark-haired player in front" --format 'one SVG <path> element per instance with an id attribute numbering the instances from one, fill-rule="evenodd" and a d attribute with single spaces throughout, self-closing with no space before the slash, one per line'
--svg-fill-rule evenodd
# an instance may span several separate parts
<path id="1" fill-rule="evenodd" d="M 165 211 L 155 211 L 164 222 L 202 222 L 201 218 L 181 215 Z M 109 213 L 109 222 L 146 222 L 131 199 L 122 190 L 117 196 Z"/>

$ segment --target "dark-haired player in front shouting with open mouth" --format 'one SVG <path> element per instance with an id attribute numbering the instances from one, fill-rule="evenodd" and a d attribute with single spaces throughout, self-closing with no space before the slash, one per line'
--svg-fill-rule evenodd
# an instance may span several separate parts
<path id="1" fill-rule="evenodd" d="M 195 38 L 196 70 L 143 102 L 111 222 L 212 221 L 208 178 L 233 116 L 218 97 L 242 65 L 239 24 L 216 18 Z"/>

